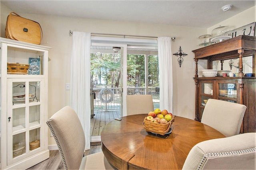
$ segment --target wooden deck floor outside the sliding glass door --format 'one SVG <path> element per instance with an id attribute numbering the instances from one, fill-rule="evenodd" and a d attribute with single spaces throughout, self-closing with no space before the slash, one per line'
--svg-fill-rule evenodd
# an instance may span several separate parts
<path id="1" fill-rule="evenodd" d="M 103 127 L 110 121 L 121 117 L 120 110 L 94 111 L 95 116 L 91 118 L 90 136 L 99 136 Z"/>

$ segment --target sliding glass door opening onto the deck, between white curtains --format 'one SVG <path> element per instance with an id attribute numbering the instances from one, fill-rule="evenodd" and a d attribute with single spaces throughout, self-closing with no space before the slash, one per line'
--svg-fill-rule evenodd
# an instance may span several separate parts
<path id="1" fill-rule="evenodd" d="M 159 107 L 157 46 L 113 42 L 91 44 L 91 142 L 100 141 L 107 123 L 126 115 L 126 95 L 152 94 Z"/>

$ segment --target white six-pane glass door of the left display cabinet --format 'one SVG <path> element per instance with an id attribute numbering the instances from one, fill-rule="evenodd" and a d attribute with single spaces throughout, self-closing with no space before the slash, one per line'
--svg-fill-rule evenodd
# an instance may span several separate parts
<path id="1" fill-rule="evenodd" d="M 39 152 L 44 79 L 7 80 L 7 164 Z"/>

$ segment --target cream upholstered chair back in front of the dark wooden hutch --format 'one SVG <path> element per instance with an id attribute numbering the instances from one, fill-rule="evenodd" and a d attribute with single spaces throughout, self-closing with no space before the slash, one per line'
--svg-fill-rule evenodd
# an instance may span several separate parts
<path id="1" fill-rule="evenodd" d="M 209 99 L 204 107 L 201 122 L 220 131 L 226 137 L 238 135 L 246 106 Z"/>

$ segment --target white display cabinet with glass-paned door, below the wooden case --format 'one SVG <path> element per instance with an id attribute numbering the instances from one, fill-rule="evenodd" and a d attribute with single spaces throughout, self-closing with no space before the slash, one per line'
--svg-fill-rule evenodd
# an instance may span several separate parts
<path id="1" fill-rule="evenodd" d="M 27 169 L 49 158 L 49 49 L 0 38 L 1 170 Z"/>

